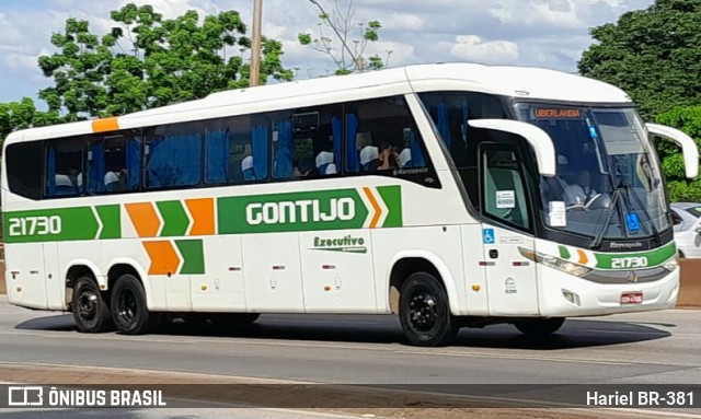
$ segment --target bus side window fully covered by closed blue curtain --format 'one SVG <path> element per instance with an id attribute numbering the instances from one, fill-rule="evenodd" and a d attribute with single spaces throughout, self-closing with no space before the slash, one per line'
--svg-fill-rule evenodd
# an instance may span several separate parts
<path id="1" fill-rule="evenodd" d="M 146 187 L 162 189 L 198 185 L 202 181 L 199 123 L 175 124 L 147 130 Z"/>

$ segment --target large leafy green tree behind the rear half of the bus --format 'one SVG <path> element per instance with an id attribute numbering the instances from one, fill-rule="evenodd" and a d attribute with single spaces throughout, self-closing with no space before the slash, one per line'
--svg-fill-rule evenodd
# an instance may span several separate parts
<path id="1" fill-rule="evenodd" d="M 239 12 L 200 20 L 195 11 L 163 19 L 151 5 L 129 3 L 111 13 L 115 26 L 102 37 L 87 21 L 69 19 L 51 44 L 59 50 L 39 57 L 54 86 L 39 92 L 50 110 L 67 120 L 129 112 L 202 98 L 248 86 L 251 47 Z M 281 44 L 264 38 L 261 79 L 291 80 L 281 65 Z"/>

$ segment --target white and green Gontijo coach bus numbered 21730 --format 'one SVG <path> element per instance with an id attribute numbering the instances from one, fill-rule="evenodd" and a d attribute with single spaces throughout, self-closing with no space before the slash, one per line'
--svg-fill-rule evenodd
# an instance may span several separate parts
<path id="1" fill-rule="evenodd" d="M 12 304 L 82 331 L 173 317 L 398 314 L 414 345 L 673 307 L 677 251 L 648 136 L 617 88 L 429 65 L 211 94 L 13 132 Z M 194 314 L 197 315 L 194 315 Z"/>

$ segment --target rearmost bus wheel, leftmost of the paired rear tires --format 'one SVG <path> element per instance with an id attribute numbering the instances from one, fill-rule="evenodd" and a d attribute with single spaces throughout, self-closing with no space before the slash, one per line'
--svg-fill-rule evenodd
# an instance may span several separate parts
<path id="1" fill-rule="evenodd" d="M 95 334 L 112 328 L 110 306 L 103 300 L 94 279 L 81 277 L 73 286 L 71 299 L 73 319 L 82 333 Z"/>

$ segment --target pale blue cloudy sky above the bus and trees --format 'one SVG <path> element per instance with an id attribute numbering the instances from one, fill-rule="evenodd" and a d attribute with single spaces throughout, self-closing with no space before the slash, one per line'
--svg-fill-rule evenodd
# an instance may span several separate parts
<path id="1" fill-rule="evenodd" d="M 334 0 L 319 0 L 327 10 Z M 348 0 L 338 0 L 342 5 Z M 50 85 L 37 58 L 53 54 L 53 33 L 68 18 L 88 20 L 93 33 L 112 27 L 110 11 L 134 2 L 165 18 L 187 10 L 200 15 L 237 10 L 252 22 L 253 0 L 0 0 L 0 102 L 35 97 Z M 354 0 L 355 20 L 379 20 L 380 40 L 369 51 L 389 55 L 389 67 L 427 62 L 479 62 L 576 71 L 591 45 L 589 28 L 653 0 Z M 297 77 L 335 70 L 322 53 L 299 45 L 300 32 L 317 34 L 318 10 L 307 0 L 263 0 L 263 34 L 283 42 L 283 63 Z M 250 26 L 250 24 L 249 24 Z"/>

